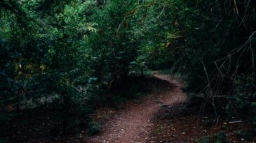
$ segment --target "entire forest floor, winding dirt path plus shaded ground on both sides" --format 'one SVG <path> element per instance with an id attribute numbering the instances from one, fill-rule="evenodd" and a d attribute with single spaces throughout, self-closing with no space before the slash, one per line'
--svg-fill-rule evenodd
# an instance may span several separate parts
<path id="1" fill-rule="evenodd" d="M 153 75 L 140 81 L 143 84 L 134 84 L 140 85 L 139 98 L 132 96 L 120 101 L 119 109 L 107 106 L 91 114 L 91 119 L 102 125 L 97 135 L 88 136 L 86 128 L 61 134 L 62 125 L 47 111 L 15 117 L 8 125 L 12 128 L 0 130 L 0 135 L 21 143 L 209 143 L 218 139 L 256 143 L 248 123 L 236 116 L 228 119 L 225 113 L 214 123 L 213 112 L 200 113 L 201 101 L 189 100 L 180 80 L 156 71 Z M 130 86 L 120 90 L 128 89 L 130 95 L 137 92 Z"/>

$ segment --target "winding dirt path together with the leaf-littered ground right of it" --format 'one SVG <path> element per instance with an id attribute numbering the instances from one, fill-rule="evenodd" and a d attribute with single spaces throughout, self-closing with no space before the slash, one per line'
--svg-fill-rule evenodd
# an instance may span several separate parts
<path id="1" fill-rule="evenodd" d="M 227 114 L 200 113 L 201 103 L 188 101 L 182 82 L 154 72 L 161 92 L 127 102 L 121 110 L 98 110 L 93 119 L 102 123 L 100 134 L 86 138 L 92 143 L 255 143 L 248 123 Z"/>

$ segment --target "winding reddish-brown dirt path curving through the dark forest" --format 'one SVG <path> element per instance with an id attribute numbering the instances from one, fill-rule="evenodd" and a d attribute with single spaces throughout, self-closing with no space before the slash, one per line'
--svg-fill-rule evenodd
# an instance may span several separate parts
<path id="1" fill-rule="evenodd" d="M 161 94 L 145 98 L 140 104 L 117 112 L 114 119 L 103 126 L 102 133 L 91 138 L 90 142 L 147 142 L 147 134 L 152 126 L 150 120 L 160 110 L 161 102 L 165 105 L 172 105 L 182 103 L 187 99 L 187 96 L 180 89 L 180 86 L 182 86 L 180 82 L 158 72 L 154 72 L 154 77 L 168 81 L 170 89 L 166 89 Z"/>

